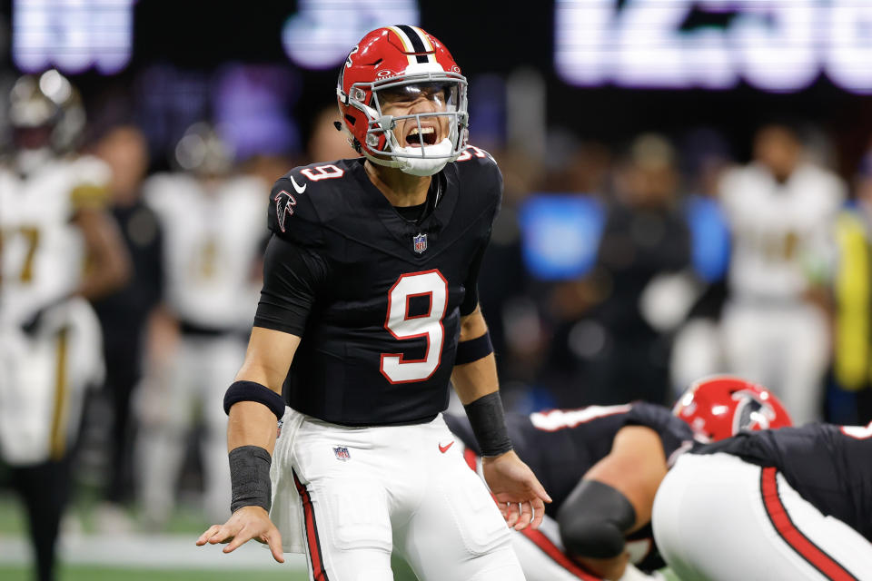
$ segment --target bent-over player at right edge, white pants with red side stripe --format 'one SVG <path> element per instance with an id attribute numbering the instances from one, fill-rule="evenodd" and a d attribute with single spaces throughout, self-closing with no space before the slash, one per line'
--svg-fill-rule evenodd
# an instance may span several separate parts
<path id="1" fill-rule="evenodd" d="M 697 403 L 679 402 L 680 413 L 713 417 Z M 768 429 L 696 448 L 663 480 L 652 524 L 682 579 L 872 579 L 872 424 Z"/>

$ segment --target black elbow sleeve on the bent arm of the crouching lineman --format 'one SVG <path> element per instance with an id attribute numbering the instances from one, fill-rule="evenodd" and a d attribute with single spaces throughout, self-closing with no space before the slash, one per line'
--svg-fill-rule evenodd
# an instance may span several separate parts
<path id="1" fill-rule="evenodd" d="M 635 523 L 636 511 L 616 488 L 582 480 L 560 507 L 557 521 L 572 555 L 610 558 L 623 552 L 624 531 Z"/>

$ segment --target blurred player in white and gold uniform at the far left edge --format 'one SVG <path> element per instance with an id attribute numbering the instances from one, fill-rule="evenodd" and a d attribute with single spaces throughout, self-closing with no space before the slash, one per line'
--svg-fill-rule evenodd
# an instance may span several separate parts
<path id="1" fill-rule="evenodd" d="M 15 152 L 0 165 L 0 454 L 24 497 L 38 578 L 54 578 L 67 459 L 84 390 L 102 381 L 87 300 L 114 291 L 129 262 L 104 212 L 108 168 L 60 156 L 84 113 L 56 71 L 15 84 Z"/>

